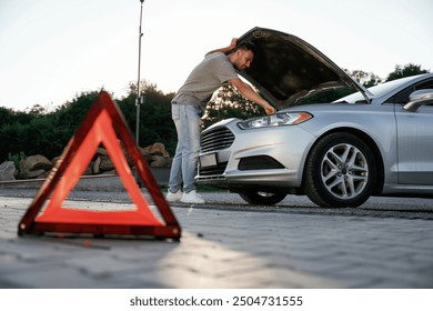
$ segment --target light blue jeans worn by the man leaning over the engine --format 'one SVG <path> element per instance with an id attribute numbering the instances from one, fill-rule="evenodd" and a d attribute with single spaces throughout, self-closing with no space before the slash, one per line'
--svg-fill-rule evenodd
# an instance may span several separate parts
<path id="1" fill-rule="evenodd" d="M 171 104 L 171 116 L 178 131 L 178 146 L 171 164 L 169 190 L 195 190 L 194 177 L 200 149 L 201 109 L 194 106 Z"/>

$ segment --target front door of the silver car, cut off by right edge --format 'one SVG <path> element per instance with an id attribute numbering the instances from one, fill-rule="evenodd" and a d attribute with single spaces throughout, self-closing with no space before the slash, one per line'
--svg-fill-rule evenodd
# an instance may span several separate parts
<path id="1" fill-rule="evenodd" d="M 393 99 L 401 184 L 433 184 L 433 106 L 421 106 L 414 112 L 403 109 L 409 96 L 421 89 L 433 89 L 433 80 L 416 83 Z"/>

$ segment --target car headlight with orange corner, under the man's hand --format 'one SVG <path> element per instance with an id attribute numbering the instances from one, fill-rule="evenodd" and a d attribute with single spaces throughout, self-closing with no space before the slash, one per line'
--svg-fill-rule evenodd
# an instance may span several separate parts
<path id="1" fill-rule="evenodd" d="M 313 116 L 308 112 L 278 112 L 275 114 L 253 118 L 242 122 L 238 126 L 242 130 L 280 127 L 280 126 L 295 126 L 312 119 Z"/>

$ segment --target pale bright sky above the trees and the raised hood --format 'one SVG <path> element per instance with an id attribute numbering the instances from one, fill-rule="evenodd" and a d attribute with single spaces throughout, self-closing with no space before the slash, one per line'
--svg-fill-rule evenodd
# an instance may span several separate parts
<path id="1" fill-rule="evenodd" d="M 0 0 L 0 107 L 52 110 L 139 72 L 140 0 Z M 294 34 L 338 66 L 433 72 L 431 0 L 144 0 L 141 79 L 177 91 L 213 49 L 253 27 Z M 1 122 L 1 120 L 0 120 Z"/>

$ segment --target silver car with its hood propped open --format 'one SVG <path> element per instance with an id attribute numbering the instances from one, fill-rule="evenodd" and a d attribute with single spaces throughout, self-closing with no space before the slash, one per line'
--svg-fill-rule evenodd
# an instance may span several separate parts
<path id="1" fill-rule="evenodd" d="M 280 110 L 228 119 L 202 133 L 197 181 L 252 204 L 306 194 L 324 208 L 359 207 L 370 195 L 433 194 L 433 73 L 367 90 L 303 40 L 254 28 L 256 51 L 239 72 Z M 300 104 L 329 88 L 355 93 Z"/>

